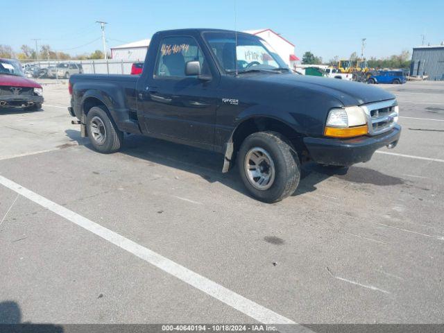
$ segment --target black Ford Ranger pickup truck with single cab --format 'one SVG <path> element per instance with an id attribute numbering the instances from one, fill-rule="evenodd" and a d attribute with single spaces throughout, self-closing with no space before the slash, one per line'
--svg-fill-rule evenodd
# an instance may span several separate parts
<path id="1" fill-rule="evenodd" d="M 246 33 L 155 33 L 141 75 L 73 75 L 69 113 L 101 153 L 123 133 L 223 154 L 246 187 L 273 203 L 295 191 L 300 164 L 370 160 L 400 137 L 398 103 L 377 87 L 293 74 L 271 46 Z"/>

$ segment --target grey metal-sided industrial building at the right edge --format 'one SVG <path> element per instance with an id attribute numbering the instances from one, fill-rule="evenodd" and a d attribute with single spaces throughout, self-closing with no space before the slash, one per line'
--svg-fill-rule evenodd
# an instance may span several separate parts
<path id="1" fill-rule="evenodd" d="M 426 80 L 444 80 L 444 42 L 413 48 L 410 76 L 424 76 Z"/>

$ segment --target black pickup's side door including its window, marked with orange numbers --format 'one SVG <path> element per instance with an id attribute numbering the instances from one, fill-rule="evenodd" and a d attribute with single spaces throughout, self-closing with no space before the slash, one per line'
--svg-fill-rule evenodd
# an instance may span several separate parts
<path id="1" fill-rule="evenodd" d="M 206 80 L 185 75 L 186 63 L 196 60 Z M 194 37 L 162 39 L 153 76 L 138 92 L 146 134 L 214 145 L 217 83 L 207 64 Z"/>

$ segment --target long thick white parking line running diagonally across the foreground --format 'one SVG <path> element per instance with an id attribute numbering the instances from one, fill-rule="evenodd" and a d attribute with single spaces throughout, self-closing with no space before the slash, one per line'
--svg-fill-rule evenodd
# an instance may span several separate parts
<path id="1" fill-rule="evenodd" d="M 40 196 L 40 194 L 36 194 L 35 192 L 22 187 L 21 185 L 0 176 L 0 184 L 8 187 L 12 191 L 15 191 L 17 194 L 28 198 L 29 200 L 37 203 L 37 205 L 41 205 L 47 210 L 51 210 L 62 216 L 64 219 L 71 221 L 72 223 L 96 234 L 97 236 L 109 241 L 110 243 L 122 248 L 123 250 L 128 251 L 129 253 L 143 259 L 144 261 L 160 268 L 162 271 L 173 275 L 174 277 L 182 280 L 183 282 L 191 285 L 192 287 L 203 291 L 207 295 L 216 298 L 216 300 L 220 300 L 221 302 L 229 305 L 233 309 L 237 309 L 238 311 L 250 316 L 251 318 L 259 321 L 264 324 L 296 324 L 291 319 L 281 316 L 271 309 L 267 309 L 262 305 L 253 302 L 253 300 L 249 300 L 244 296 L 227 289 L 216 282 L 205 278 L 194 271 L 189 270 L 188 268 L 173 262 L 172 260 L 163 257 L 162 255 L 155 253 L 153 250 L 145 248 L 130 239 L 117 234 L 117 232 L 113 232 L 112 230 L 99 225 L 76 212 L 68 210 L 53 201 Z M 293 327 L 296 328 L 296 327 Z M 297 326 L 298 332 L 312 332 L 303 326 Z"/>

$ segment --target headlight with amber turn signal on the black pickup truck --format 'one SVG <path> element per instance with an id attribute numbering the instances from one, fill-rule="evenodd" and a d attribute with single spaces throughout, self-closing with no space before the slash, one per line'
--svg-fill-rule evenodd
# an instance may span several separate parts
<path id="1" fill-rule="evenodd" d="M 327 117 L 324 135 L 327 137 L 358 137 L 368 134 L 366 114 L 359 106 L 333 109 Z"/>

